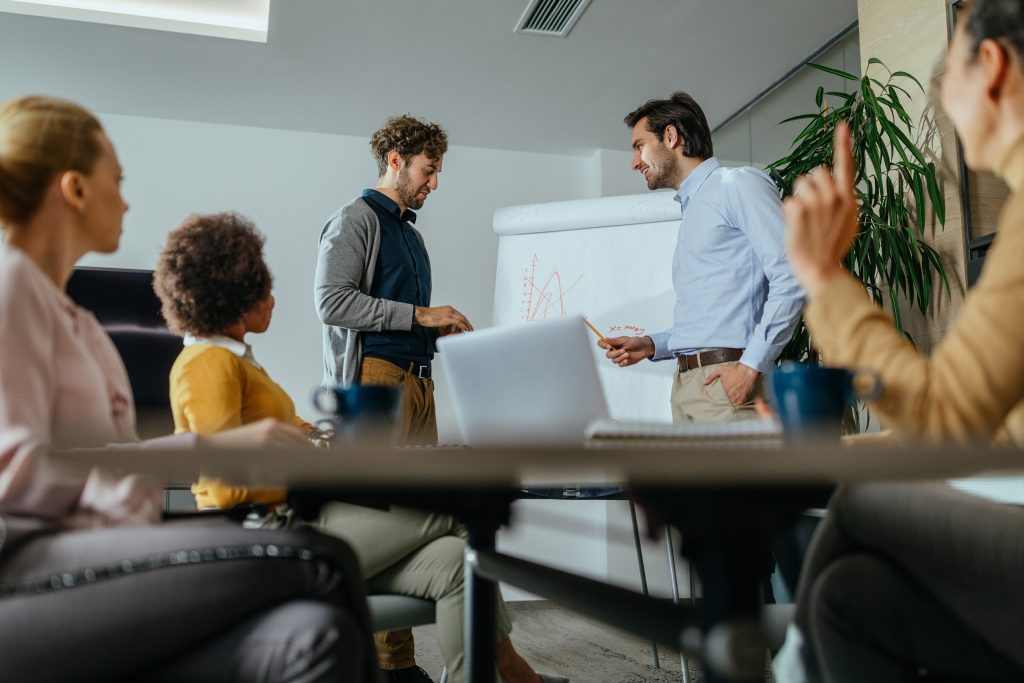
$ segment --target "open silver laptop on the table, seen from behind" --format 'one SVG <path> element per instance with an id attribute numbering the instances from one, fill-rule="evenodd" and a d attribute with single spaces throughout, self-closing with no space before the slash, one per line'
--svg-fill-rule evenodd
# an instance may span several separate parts
<path id="1" fill-rule="evenodd" d="M 608 417 L 588 334 L 574 316 L 439 339 L 466 443 L 580 443 Z"/>

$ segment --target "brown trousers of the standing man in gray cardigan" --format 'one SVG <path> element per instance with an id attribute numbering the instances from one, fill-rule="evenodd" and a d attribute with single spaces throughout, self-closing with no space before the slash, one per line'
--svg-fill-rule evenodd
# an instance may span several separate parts
<path id="1" fill-rule="evenodd" d="M 401 409 L 395 425 L 395 440 L 403 445 L 435 445 L 437 414 L 434 381 L 416 377 L 408 369 L 382 358 L 362 358 L 359 384 L 401 387 Z"/>

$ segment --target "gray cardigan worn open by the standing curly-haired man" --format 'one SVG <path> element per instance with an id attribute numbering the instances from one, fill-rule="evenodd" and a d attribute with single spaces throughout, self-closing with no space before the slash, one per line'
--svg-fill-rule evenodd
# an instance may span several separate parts
<path id="1" fill-rule="evenodd" d="M 423 236 L 412 229 L 426 254 Z M 360 332 L 413 329 L 413 304 L 370 296 L 380 246 L 380 221 L 361 197 L 338 209 L 321 230 L 313 298 L 324 324 L 325 386 L 358 379 Z"/>

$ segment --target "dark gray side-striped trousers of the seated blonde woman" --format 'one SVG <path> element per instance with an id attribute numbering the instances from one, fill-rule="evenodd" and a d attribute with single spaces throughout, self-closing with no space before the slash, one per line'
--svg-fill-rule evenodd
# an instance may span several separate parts
<path id="1" fill-rule="evenodd" d="M 0 682 L 376 680 L 337 539 L 225 521 L 62 531 L 0 561 Z"/>

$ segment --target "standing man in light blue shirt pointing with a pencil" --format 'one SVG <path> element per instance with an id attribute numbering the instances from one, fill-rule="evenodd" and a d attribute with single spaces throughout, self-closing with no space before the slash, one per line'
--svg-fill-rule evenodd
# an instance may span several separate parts
<path id="1" fill-rule="evenodd" d="M 778 190 L 757 169 L 718 163 L 703 112 L 684 92 L 646 102 L 626 125 L 633 168 L 647 187 L 678 189 L 676 306 L 672 329 L 601 346 L 621 367 L 676 360 L 676 422 L 745 417 L 804 305 L 786 260 Z"/>

